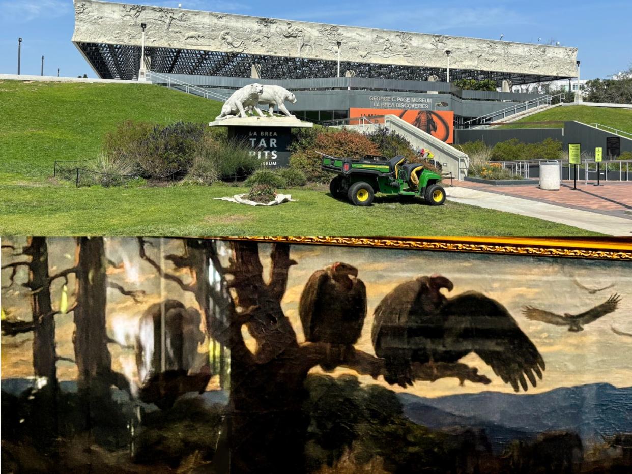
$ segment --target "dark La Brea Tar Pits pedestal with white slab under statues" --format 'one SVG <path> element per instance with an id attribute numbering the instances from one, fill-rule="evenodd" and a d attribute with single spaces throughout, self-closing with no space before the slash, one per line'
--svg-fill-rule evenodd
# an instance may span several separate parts
<path id="1" fill-rule="evenodd" d="M 313 123 L 291 117 L 236 117 L 214 120 L 209 126 L 228 127 L 228 137 L 248 143 L 250 154 L 257 155 L 262 166 L 279 168 L 289 164 L 292 128 L 311 127 Z"/>

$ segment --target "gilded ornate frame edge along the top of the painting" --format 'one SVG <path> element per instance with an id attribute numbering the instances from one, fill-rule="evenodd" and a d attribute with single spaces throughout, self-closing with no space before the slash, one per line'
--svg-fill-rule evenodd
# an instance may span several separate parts
<path id="1" fill-rule="evenodd" d="M 632 238 L 530 237 L 221 237 L 266 243 L 349 245 L 361 247 L 494 253 L 539 257 L 594 258 L 632 262 Z"/>

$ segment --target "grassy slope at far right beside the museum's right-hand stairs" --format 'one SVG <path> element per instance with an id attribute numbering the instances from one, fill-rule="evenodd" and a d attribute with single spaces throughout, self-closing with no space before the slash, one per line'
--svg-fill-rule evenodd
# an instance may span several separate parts
<path id="1" fill-rule="evenodd" d="M 555 120 L 558 123 L 528 123 L 549 120 Z M 518 119 L 513 123 L 501 125 L 499 128 L 557 128 L 564 126 L 563 122 L 565 120 L 576 120 L 588 124 L 600 123 L 632 133 L 632 109 L 590 106 L 554 107 L 553 109 Z"/>

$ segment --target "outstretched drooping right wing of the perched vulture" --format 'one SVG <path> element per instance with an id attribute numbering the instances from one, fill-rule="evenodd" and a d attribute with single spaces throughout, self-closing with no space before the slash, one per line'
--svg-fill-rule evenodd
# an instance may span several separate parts
<path id="1" fill-rule="evenodd" d="M 447 349 L 473 351 L 516 392 L 518 384 L 526 391 L 526 379 L 534 387 L 535 375 L 542 379 L 544 359 L 498 301 L 467 292 L 447 300 L 442 313 Z"/>

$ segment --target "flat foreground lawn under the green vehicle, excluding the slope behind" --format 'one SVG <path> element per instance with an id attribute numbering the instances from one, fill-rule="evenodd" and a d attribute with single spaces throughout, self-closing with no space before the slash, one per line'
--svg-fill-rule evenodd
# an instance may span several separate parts
<path id="1" fill-rule="evenodd" d="M 354 207 L 317 190 L 289 190 L 298 202 L 274 207 L 213 200 L 245 191 L 232 186 L 6 186 L 0 197 L 0 235 L 596 235 L 532 217 L 450 202 L 430 207 L 382 198 L 372 207 Z"/>

